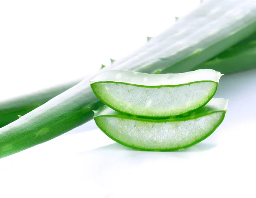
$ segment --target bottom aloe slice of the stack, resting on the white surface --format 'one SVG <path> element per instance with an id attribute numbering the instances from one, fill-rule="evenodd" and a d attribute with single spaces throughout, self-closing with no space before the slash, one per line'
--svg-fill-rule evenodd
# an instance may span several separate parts
<path id="1" fill-rule="evenodd" d="M 224 120 L 227 99 L 212 98 L 201 109 L 182 118 L 136 118 L 102 106 L 95 112 L 97 126 L 114 141 L 138 150 L 172 151 L 188 148 L 211 135 Z"/>

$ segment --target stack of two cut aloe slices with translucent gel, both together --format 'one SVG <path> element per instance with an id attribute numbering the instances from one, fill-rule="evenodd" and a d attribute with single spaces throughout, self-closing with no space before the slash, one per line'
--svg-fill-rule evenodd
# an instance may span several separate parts
<path id="1" fill-rule="evenodd" d="M 102 72 L 90 81 L 106 104 L 94 112 L 94 120 L 111 139 L 134 149 L 185 149 L 207 138 L 224 120 L 228 100 L 212 98 L 221 76 L 212 69 Z"/>

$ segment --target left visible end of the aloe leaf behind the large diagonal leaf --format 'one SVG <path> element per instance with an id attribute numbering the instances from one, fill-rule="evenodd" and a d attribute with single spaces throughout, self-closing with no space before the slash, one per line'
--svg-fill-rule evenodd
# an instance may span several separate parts
<path id="1" fill-rule="evenodd" d="M 25 115 L 77 83 L 79 83 L 79 80 L 0 101 L 0 127 L 17 120 L 17 115 Z"/>

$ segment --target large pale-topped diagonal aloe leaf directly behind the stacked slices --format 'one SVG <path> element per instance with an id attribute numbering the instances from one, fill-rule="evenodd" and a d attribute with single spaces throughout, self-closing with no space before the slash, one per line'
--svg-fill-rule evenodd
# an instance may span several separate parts
<path id="1" fill-rule="evenodd" d="M 154 73 L 158 70 L 163 72 L 169 66 L 174 68 L 173 71 L 175 71 L 175 67 L 172 67 L 173 63 L 185 60 L 191 54 L 190 50 L 181 50 L 184 46 L 183 40 L 190 39 L 194 39 L 196 42 L 200 41 L 199 43 L 201 44 L 211 43 L 210 46 L 216 46 L 216 40 L 219 38 L 217 46 L 221 47 L 218 47 L 218 49 L 211 48 L 212 50 L 207 51 L 207 59 L 214 57 L 222 50 L 256 32 L 256 24 L 254 23 L 256 20 L 256 2 L 248 0 L 242 2 L 238 0 L 232 2 L 230 0 L 209 0 L 204 2 L 198 9 L 195 9 L 187 17 L 180 18 L 174 26 L 159 36 L 153 37 L 136 52 L 128 57 L 116 60 L 111 67 L 105 67 L 99 73 L 109 69 L 138 70 L 145 73 Z M 214 8 L 218 10 L 216 11 Z M 230 11 L 232 12 L 230 13 Z M 204 26 L 204 18 L 208 22 L 206 26 Z M 223 21 L 224 23 L 222 23 Z M 225 32 L 217 31 L 215 26 L 217 23 L 222 24 L 221 27 L 225 29 Z M 204 28 L 201 29 L 203 26 Z M 200 31 L 197 31 L 197 29 Z M 211 32 L 209 32 L 210 30 Z M 208 32 L 209 38 L 204 32 Z M 203 37 L 201 37 L 201 34 Z M 227 38 L 225 37 L 227 34 L 230 36 L 228 39 L 224 39 Z M 212 35 L 215 35 L 215 37 L 213 38 Z M 223 45 L 221 45 L 222 41 Z M 188 47 L 190 44 L 187 43 L 187 49 L 190 49 Z M 170 51 L 169 48 L 173 46 L 175 46 L 176 50 L 172 49 Z M 193 49 L 195 46 L 193 46 L 191 45 L 192 51 L 195 52 Z M 200 45 L 196 46 L 200 47 Z M 199 52 L 199 49 L 196 50 Z M 177 53 L 173 54 L 174 51 Z M 181 51 L 186 53 L 178 53 Z M 204 53 L 198 54 L 200 55 L 197 56 L 198 60 L 200 60 L 198 61 L 199 64 L 205 58 L 202 56 Z M 173 60 L 164 59 L 164 57 L 171 55 L 174 57 Z M 179 58 L 177 55 L 179 55 Z M 195 67 L 195 62 L 193 61 L 191 65 L 184 61 L 181 62 L 183 64 L 180 64 L 180 70 L 186 70 L 187 72 Z M 0 158 L 49 141 L 91 120 L 93 118 L 92 110 L 96 110 L 103 105 L 93 94 L 88 82 L 97 74 L 82 80 L 76 86 L 52 98 L 22 118 L 2 127 L 0 129 Z"/>

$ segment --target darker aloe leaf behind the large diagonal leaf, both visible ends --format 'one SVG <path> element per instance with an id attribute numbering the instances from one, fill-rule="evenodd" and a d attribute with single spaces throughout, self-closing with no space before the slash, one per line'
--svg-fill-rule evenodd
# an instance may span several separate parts
<path id="1" fill-rule="evenodd" d="M 147 40 L 150 39 L 151 37 L 147 38 Z M 105 66 L 102 65 L 102 68 L 104 67 Z M 221 73 L 228 74 L 254 67 L 256 67 L 256 34 L 253 34 L 249 38 L 242 40 L 235 46 L 231 46 L 221 54 L 190 70 L 214 69 Z M 156 72 L 160 72 L 160 69 L 156 70 Z M 40 93 L 32 93 L 13 98 L 12 100 L 0 101 L 0 127 L 17 120 L 17 114 L 25 115 L 79 82 L 80 81 L 77 80 L 75 83 L 70 83 L 69 85 L 65 84 L 43 90 L 41 92 L 42 97 L 40 96 Z"/>

